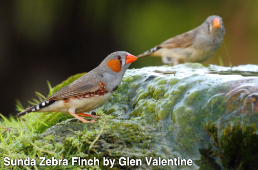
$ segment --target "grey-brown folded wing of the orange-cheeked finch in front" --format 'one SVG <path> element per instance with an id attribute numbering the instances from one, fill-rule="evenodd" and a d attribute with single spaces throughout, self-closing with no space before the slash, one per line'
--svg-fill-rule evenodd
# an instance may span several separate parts
<path id="1" fill-rule="evenodd" d="M 100 87 L 101 85 L 99 85 L 101 83 L 101 76 L 99 75 L 90 76 L 87 74 L 77 79 L 70 85 L 67 85 L 61 88 L 53 95 L 51 95 L 49 98 L 47 98 L 46 101 L 75 97 L 89 92 L 95 92 L 99 88 L 101 88 Z"/>

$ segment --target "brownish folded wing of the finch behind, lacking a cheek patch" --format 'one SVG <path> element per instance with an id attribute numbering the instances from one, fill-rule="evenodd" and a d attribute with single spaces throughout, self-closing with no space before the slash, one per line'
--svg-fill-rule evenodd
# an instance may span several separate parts
<path id="1" fill-rule="evenodd" d="M 192 30 L 184 34 L 175 36 L 167 41 L 161 43 L 159 48 L 185 48 L 193 44 L 196 37 L 196 31 Z"/>

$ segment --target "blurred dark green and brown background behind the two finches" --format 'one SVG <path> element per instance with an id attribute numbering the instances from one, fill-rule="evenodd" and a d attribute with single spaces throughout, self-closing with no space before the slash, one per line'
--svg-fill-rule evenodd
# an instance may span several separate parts
<path id="1" fill-rule="evenodd" d="M 257 0 L 6 0 L 0 1 L 0 113 L 16 114 L 48 87 L 90 71 L 108 54 L 138 55 L 222 17 L 224 42 L 204 64 L 258 64 Z M 221 64 L 221 63 L 220 63 Z M 162 65 L 143 58 L 130 68 Z"/>

